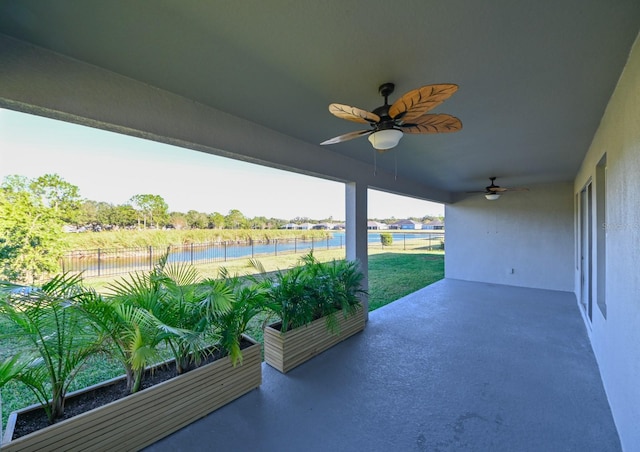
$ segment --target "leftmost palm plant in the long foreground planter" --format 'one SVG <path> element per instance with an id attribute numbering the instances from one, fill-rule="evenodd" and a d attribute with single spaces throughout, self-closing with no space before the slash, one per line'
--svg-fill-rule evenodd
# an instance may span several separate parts
<path id="1" fill-rule="evenodd" d="M 78 371 L 101 347 L 101 338 L 83 309 L 100 296 L 81 282 L 79 275 L 68 274 L 39 288 L 0 282 L 0 314 L 29 345 L 26 364 L 11 377 L 35 394 L 51 423 L 62 416 L 66 394 Z M 5 370 L 15 370 L 16 365 L 7 364 Z"/>

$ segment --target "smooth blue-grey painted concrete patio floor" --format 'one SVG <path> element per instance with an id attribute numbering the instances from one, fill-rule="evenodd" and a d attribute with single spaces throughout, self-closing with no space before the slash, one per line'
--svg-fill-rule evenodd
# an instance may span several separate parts
<path id="1" fill-rule="evenodd" d="M 574 294 L 443 280 L 148 451 L 618 451 Z"/>

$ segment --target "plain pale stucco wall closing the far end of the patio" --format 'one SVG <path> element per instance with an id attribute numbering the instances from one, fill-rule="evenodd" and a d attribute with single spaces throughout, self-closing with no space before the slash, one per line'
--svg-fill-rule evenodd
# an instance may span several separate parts
<path id="1" fill-rule="evenodd" d="M 447 278 L 573 290 L 572 185 L 529 188 L 445 207 Z"/>

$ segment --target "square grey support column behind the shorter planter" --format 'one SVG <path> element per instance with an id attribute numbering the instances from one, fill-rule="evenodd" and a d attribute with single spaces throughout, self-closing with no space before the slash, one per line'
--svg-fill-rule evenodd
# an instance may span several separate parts
<path id="1" fill-rule="evenodd" d="M 362 288 L 369 289 L 369 254 L 367 240 L 367 185 L 350 182 L 345 184 L 346 195 L 346 250 L 348 260 L 357 260 L 364 273 Z M 365 319 L 369 319 L 369 299 L 362 297 Z"/>

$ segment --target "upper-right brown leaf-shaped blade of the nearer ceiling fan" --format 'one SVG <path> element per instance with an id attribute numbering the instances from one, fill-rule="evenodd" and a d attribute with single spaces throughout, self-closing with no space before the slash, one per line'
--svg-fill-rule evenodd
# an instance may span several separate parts
<path id="1" fill-rule="evenodd" d="M 409 91 L 389 108 L 389 116 L 403 122 L 415 122 L 417 118 L 437 107 L 458 90 L 458 85 L 442 83 L 426 85 Z"/>

